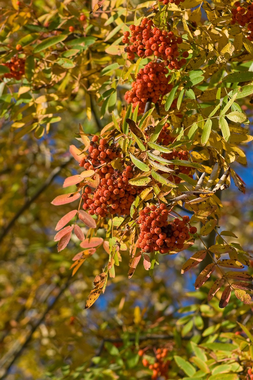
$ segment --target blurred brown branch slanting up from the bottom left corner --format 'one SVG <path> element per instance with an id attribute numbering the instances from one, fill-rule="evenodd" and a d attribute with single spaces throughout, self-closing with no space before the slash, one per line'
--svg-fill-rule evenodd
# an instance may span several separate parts
<path id="1" fill-rule="evenodd" d="M 44 313 L 41 316 L 41 318 L 39 318 L 38 321 L 36 321 L 35 325 L 32 326 L 30 332 L 28 333 L 27 337 L 25 338 L 24 343 L 21 345 L 20 342 L 17 341 L 17 344 L 14 344 L 14 347 L 12 347 L 11 350 L 10 350 L 10 351 L 13 350 L 13 352 L 10 352 L 10 355 L 8 355 L 8 353 L 6 354 L 7 358 L 8 358 L 8 356 L 12 356 L 12 355 L 14 355 L 14 356 L 11 359 L 10 363 L 6 366 L 6 368 L 3 369 L 4 373 L 1 375 L 0 380 L 3 380 L 8 375 L 9 369 L 14 364 L 14 362 L 17 360 L 17 358 L 19 358 L 19 356 L 21 355 L 22 351 L 27 346 L 27 344 L 30 342 L 30 340 L 32 339 L 33 333 L 41 325 L 41 323 L 43 322 L 46 314 L 54 307 L 55 303 L 58 301 L 58 299 L 60 298 L 60 296 L 62 295 L 62 293 L 70 285 L 71 278 L 72 278 L 72 275 L 70 275 L 68 277 L 68 279 L 66 280 L 65 284 L 62 285 L 62 287 L 60 288 L 59 293 L 55 297 L 54 301 L 47 306 L 47 308 L 44 311 Z"/>

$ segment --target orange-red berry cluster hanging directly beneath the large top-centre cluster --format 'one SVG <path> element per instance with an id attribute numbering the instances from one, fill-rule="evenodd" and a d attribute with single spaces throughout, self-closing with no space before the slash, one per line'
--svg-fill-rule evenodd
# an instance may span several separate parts
<path id="1" fill-rule="evenodd" d="M 145 110 L 147 101 L 157 103 L 158 100 L 172 90 L 173 85 L 169 84 L 170 76 L 168 69 L 163 62 L 149 62 L 137 74 L 136 82 L 132 82 L 132 89 L 125 93 L 125 100 L 133 103 L 133 109 L 139 105 L 138 115 Z"/>

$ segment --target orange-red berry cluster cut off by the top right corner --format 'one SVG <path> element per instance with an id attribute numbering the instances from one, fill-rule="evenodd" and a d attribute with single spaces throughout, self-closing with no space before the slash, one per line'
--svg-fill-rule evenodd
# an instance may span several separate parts
<path id="1" fill-rule="evenodd" d="M 244 27 L 247 25 L 248 31 L 251 32 L 247 38 L 253 41 L 253 4 L 248 3 L 240 4 L 239 1 L 234 3 L 234 8 L 231 10 L 232 19 L 231 24 L 234 25 L 236 22 Z"/>

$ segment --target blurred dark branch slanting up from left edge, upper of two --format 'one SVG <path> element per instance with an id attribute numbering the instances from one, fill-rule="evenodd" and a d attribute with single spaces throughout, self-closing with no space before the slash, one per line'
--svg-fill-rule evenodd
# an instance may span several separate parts
<path id="1" fill-rule="evenodd" d="M 28 199 L 27 202 L 19 209 L 17 214 L 14 215 L 14 217 L 9 221 L 9 223 L 3 228 L 2 233 L 0 234 L 0 243 L 6 236 L 6 234 L 11 230 L 16 220 L 23 214 L 23 212 L 30 207 L 30 205 L 35 201 L 38 196 L 41 195 L 41 193 L 44 192 L 44 190 L 53 182 L 55 177 L 58 176 L 58 174 L 61 172 L 65 166 L 67 166 L 71 161 L 73 160 L 73 157 L 69 158 L 67 161 L 65 161 L 62 165 L 57 166 L 57 168 L 54 168 L 54 170 L 51 171 L 47 179 L 45 180 L 44 184 L 39 188 L 39 190 L 32 196 L 32 198 Z"/>

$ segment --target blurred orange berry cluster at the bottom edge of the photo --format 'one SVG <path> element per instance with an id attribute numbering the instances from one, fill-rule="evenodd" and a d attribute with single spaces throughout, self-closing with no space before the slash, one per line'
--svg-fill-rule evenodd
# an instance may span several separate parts
<path id="1" fill-rule="evenodd" d="M 149 367 L 150 370 L 153 371 L 153 374 L 151 376 L 152 379 L 157 379 L 160 376 L 163 376 L 165 379 L 168 379 L 168 369 L 169 365 L 171 364 L 170 360 L 164 360 L 168 354 L 167 348 L 158 348 L 156 351 L 156 360 L 155 363 L 151 364 L 146 358 L 142 359 L 142 364 L 144 367 Z M 139 356 L 144 355 L 143 350 L 139 350 L 138 352 Z"/>

